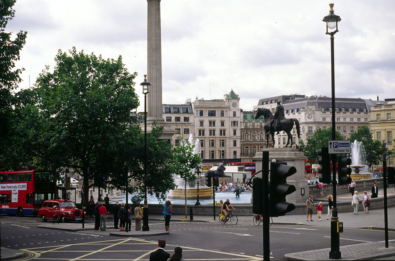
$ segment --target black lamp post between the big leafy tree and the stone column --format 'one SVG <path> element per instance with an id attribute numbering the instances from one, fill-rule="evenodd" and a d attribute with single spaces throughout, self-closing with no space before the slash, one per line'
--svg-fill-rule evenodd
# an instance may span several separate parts
<path id="1" fill-rule="evenodd" d="M 147 93 L 148 86 L 151 85 L 147 81 L 147 75 L 144 75 L 143 85 L 144 93 L 144 207 L 143 207 L 143 231 L 149 231 L 148 226 L 148 201 L 147 201 Z"/>

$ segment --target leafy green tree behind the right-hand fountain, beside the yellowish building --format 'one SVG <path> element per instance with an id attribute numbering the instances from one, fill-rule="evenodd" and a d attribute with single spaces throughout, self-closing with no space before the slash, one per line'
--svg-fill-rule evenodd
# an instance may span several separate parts
<path id="1" fill-rule="evenodd" d="M 371 168 L 372 165 L 379 165 L 383 158 L 383 154 L 388 151 L 384 146 L 384 140 L 382 142 L 373 140 L 372 132 L 366 125 L 359 128 L 357 132 L 351 133 L 350 141 L 354 142 L 354 140 L 363 144 L 367 161 L 366 164 L 369 168 Z"/>

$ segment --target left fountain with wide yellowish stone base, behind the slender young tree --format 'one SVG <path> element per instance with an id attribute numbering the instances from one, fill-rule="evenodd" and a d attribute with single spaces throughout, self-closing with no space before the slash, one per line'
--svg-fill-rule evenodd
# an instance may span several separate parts
<path id="1" fill-rule="evenodd" d="M 193 143 L 192 134 L 189 134 L 188 142 L 190 144 Z M 200 141 L 199 141 L 199 139 L 196 139 L 194 153 L 200 155 L 200 151 L 201 151 Z M 194 168 L 192 171 L 195 173 L 196 169 Z M 174 190 L 169 191 L 169 199 L 185 199 L 184 180 L 176 175 L 173 175 L 173 178 L 174 178 L 174 183 L 178 187 Z M 197 182 L 198 182 L 198 179 L 195 179 L 186 185 L 186 199 L 187 200 L 194 200 L 194 199 L 196 200 L 196 193 L 198 192 L 198 189 L 196 187 Z M 202 176 L 199 179 L 199 199 L 204 200 L 204 199 L 210 199 L 211 197 L 213 197 L 213 189 L 211 187 L 206 187 L 204 185 L 204 176 Z"/>

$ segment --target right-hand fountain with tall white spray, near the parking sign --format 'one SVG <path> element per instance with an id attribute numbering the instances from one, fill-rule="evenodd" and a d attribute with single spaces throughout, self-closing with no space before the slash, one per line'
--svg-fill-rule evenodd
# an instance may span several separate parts
<path id="1" fill-rule="evenodd" d="M 352 156 L 352 172 L 350 177 L 353 180 L 366 180 L 372 178 L 372 174 L 369 173 L 368 166 L 365 165 L 365 148 L 363 148 L 362 142 L 354 142 L 351 144 L 351 156 Z"/>

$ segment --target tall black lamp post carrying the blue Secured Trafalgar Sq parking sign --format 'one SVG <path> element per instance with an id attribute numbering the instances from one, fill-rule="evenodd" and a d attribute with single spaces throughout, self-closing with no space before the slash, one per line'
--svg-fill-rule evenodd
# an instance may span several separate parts
<path id="1" fill-rule="evenodd" d="M 334 35 L 339 32 L 337 30 L 337 22 L 339 22 L 340 16 L 335 15 L 333 11 L 333 6 L 335 4 L 329 4 L 331 8 L 329 10 L 329 15 L 325 16 L 322 21 L 326 22 L 326 34 L 331 36 L 331 74 L 332 74 L 332 140 L 336 140 L 336 123 L 335 123 L 335 55 L 333 48 Z M 333 32 L 328 32 L 329 29 L 335 29 Z M 333 208 L 332 208 L 332 218 L 331 218 L 331 251 L 329 252 L 329 258 L 340 259 L 340 236 L 337 232 L 337 224 L 339 222 L 339 217 L 337 216 L 337 206 L 336 206 L 336 154 L 332 154 L 332 184 L 333 184 Z"/>

